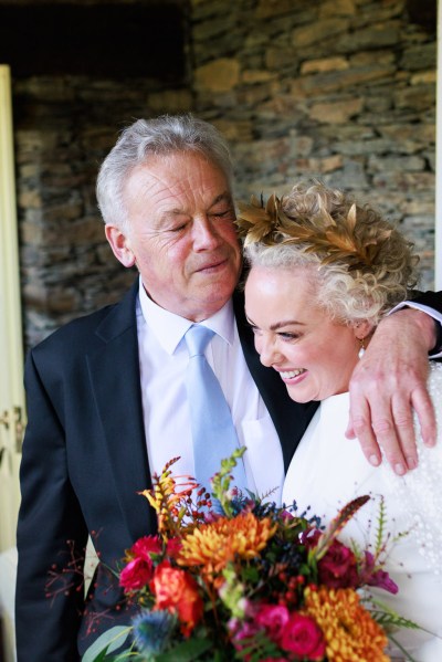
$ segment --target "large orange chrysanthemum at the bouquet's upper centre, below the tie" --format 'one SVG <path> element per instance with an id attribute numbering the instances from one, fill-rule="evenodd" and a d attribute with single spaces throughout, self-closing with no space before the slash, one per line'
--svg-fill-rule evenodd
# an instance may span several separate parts
<path id="1" fill-rule="evenodd" d="M 178 563 L 202 566 L 203 572 L 217 574 L 234 558 L 257 556 L 275 530 L 276 525 L 269 517 L 257 519 L 253 513 L 241 513 L 232 519 L 220 517 L 182 539 Z"/>

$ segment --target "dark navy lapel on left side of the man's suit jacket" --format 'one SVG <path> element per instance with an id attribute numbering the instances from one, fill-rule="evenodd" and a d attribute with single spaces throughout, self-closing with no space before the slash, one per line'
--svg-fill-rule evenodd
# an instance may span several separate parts
<path id="1" fill-rule="evenodd" d="M 97 327 L 103 345 L 87 356 L 119 508 L 134 539 L 156 527 L 154 513 L 137 494 L 151 486 L 140 392 L 137 291 L 138 279 Z"/>

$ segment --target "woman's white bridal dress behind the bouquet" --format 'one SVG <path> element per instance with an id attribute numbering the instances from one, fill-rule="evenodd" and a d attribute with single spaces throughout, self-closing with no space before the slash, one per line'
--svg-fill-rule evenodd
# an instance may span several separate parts
<path id="1" fill-rule="evenodd" d="M 429 389 L 436 412 L 438 443 L 423 446 L 415 425 L 419 466 L 397 476 L 386 462 L 371 467 L 359 443 L 348 440 L 348 393 L 320 403 L 288 467 L 283 502 L 296 501 L 299 511 L 328 524 L 357 495 L 373 498 L 347 524 L 340 539 L 355 539 L 366 547 L 376 539 L 380 495 L 387 511 L 386 532 L 390 540 L 386 569 L 398 584 L 396 596 L 377 590 L 376 597 L 400 616 L 419 623 L 422 630 L 402 629 L 397 639 L 418 662 L 442 661 L 442 364 L 431 364 Z M 372 547 L 371 547 L 372 548 Z M 401 659 L 400 653 L 391 655 Z"/>

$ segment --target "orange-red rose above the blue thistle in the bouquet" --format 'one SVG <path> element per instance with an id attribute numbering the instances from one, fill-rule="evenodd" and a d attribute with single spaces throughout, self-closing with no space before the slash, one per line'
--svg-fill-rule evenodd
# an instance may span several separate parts
<path id="1" fill-rule="evenodd" d="M 189 637 L 203 611 L 194 579 L 186 570 L 172 568 L 169 561 L 162 561 L 156 567 L 149 587 L 156 597 L 155 609 L 177 613 L 181 632 Z"/>

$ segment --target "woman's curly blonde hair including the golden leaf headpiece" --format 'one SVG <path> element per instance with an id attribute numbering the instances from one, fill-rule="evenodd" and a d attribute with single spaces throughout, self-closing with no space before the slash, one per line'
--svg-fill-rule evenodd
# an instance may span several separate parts
<path id="1" fill-rule="evenodd" d="M 413 244 L 344 191 L 301 182 L 265 207 L 256 199 L 239 207 L 246 263 L 312 267 L 316 302 L 333 318 L 376 326 L 417 284 Z"/>

